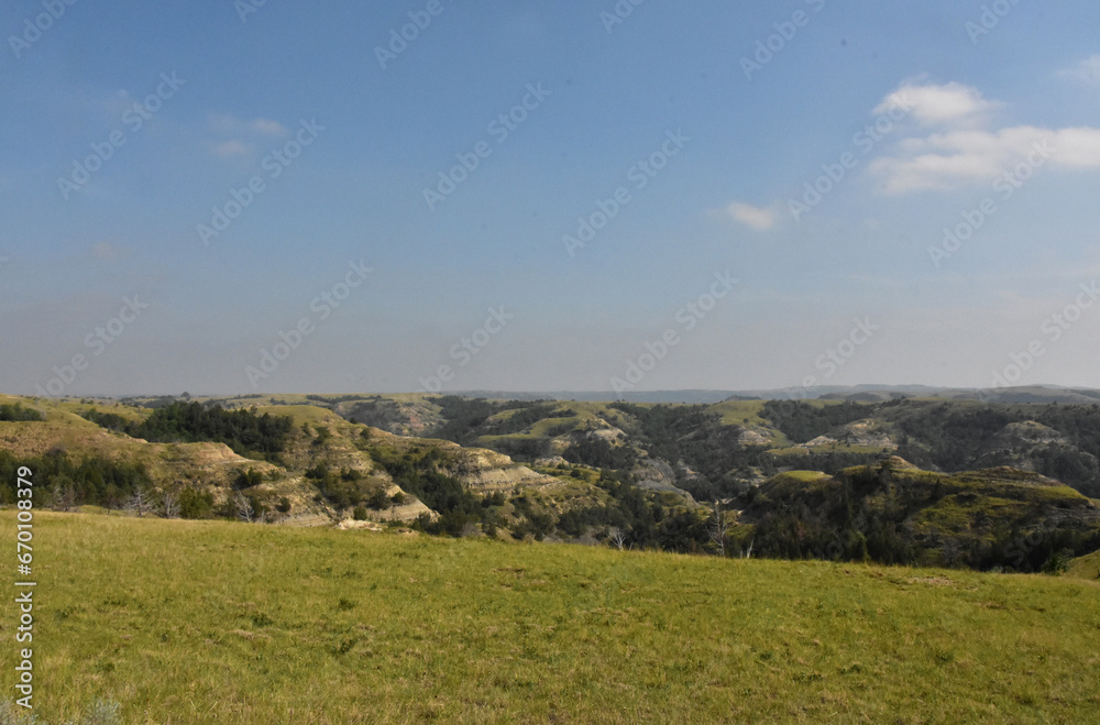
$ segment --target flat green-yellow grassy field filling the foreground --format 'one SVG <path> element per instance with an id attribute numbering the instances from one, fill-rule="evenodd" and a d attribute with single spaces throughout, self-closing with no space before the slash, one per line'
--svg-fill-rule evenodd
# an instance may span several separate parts
<path id="1" fill-rule="evenodd" d="M 0 528 L 13 570 L 13 512 Z M 78 514 L 34 532 L 50 723 L 97 697 L 125 723 L 1100 712 L 1096 581 Z"/>

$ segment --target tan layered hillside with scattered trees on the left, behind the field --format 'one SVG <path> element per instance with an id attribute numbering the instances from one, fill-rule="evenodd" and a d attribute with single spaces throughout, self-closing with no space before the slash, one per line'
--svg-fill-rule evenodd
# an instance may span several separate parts
<path id="1" fill-rule="evenodd" d="M 40 505 L 61 510 L 90 505 L 343 528 L 393 521 L 437 534 L 587 542 L 622 527 L 639 545 L 678 550 L 691 545 L 669 521 L 698 523 L 690 513 L 697 506 L 672 486 L 625 486 L 563 459 L 525 465 L 293 398 L 248 402 L 226 410 L 197 400 L 135 407 L 0 397 L 33 414 L 8 417 L 41 418 L 0 419 L 0 504 L 14 501 L 13 472 L 29 465 Z"/>

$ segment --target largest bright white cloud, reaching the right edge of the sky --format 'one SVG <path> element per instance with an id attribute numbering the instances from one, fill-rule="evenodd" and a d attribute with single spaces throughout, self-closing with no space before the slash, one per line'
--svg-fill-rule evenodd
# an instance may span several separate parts
<path id="1" fill-rule="evenodd" d="M 990 130 L 989 112 L 999 103 L 959 84 L 903 86 L 883 106 L 899 95 L 913 106 L 919 121 L 939 124 L 941 130 L 902 139 L 890 155 L 870 163 L 870 173 L 881 179 L 880 188 L 887 194 L 992 182 L 1028 158 L 1043 165 L 1100 168 L 1100 129 L 1021 125 Z"/>

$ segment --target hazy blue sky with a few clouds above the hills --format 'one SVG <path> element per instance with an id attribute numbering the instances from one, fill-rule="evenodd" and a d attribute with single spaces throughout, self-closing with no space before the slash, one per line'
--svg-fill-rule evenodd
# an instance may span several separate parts
<path id="1" fill-rule="evenodd" d="M 0 3 L 0 391 L 1100 387 L 1092 0 Z"/>

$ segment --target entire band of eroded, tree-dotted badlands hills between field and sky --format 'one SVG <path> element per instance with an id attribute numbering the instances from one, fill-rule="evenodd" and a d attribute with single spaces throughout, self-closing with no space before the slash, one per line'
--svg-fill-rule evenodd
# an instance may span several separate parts
<path id="1" fill-rule="evenodd" d="M 7 399 L 44 419 L 0 421 L 0 472 L 32 465 L 62 510 L 144 492 L 185 518 L 983 571 L 1100 549 L 1093 406 Z"/>

